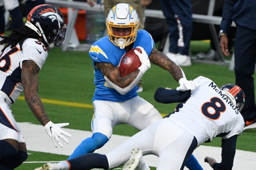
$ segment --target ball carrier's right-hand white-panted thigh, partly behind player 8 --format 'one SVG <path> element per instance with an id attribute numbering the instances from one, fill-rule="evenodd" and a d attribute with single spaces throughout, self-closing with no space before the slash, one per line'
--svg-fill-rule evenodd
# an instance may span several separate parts
<path id="1" fill-rule="evenodd" d="M 143 130 L 155 121 L 162 119 L 160 113 L 154 106 L 141 97 L 135 97 L 129 100 L 130 112 L 125 122 L 138 130 Z"/>

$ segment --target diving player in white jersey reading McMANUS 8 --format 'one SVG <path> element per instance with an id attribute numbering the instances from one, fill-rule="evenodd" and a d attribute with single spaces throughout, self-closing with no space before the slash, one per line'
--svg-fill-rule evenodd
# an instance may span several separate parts
<path id="1" fill-rule="evenodd" d="M 124 170 L 148 170 L 142 157 L 147 154 L 159 156 L 157 170 L 182 170 L 194 149 L 215 137 L 222 138 L 222 162 L 217 163 L 209 157 L 205 162 L 215 170 L 231 170 L 236 139 L 244 128 L 244 119 L 239 112 L 244 105 L 244 92 L 231 84 L 219 89 L 212 80 L 202 76 L 193 81 L 196 89 L 192 91 L 158 88 L 156 101 L 182 104 L 110 153 L 85 154 L 58 164 L 45 164 L 38 170 L 112 169 L 122 165 Z"/>

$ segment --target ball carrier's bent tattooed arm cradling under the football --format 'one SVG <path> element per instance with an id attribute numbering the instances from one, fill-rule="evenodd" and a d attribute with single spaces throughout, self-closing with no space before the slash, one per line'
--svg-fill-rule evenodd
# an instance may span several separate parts
<path id="1" fill-rule="evenodd" d="M 130 85 L 140 72 L 140 70 L 136 70 L 122 77 L 120 70 L 111 63 L 95 62 L 95 67 L 100 69 L 103 76 L 106 76 L 112 83 L 121 88 Z"/>

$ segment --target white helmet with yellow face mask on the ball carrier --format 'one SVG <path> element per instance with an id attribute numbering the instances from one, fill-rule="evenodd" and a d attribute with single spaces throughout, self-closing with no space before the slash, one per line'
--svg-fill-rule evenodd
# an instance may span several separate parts
<path id="1" fill-rule="evenodd" d="M 108 13 L 106 26 L 108 39 L 121 49 L 124 49 L 125 46 L 136 40 L 139 17 L 136 10 L 129 4 L 116 4 Z M 131 32 L 128 36 L 116 36 L 113 33 L 113 28 L 131 28 Z"/>

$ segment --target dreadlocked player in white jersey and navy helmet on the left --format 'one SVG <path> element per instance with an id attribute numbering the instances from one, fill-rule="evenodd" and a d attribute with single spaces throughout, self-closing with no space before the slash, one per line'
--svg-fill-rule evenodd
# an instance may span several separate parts
<path id="1" fill-rule="evenodd" d="M 27 22 L 10 36 L 2 36 L 0 44 L 6 43 L 0 55 L 0 169 L 12 170 L 22 164 L 28 156 L 26 142 L 20 132 L 11 105 L 24 91 L 36 119 L 44 126 L 46 133 L 57 147 L 62 147 L 61 138 L 71 137 L 61 127 L 68 123 L 54 124 L 44 111 L 38 96 L 38 72 L 47 58 L 47 49 L 60 46 L 66 32 L 62 13 L 55 6 L 36 6 L 28 14 Z"/>

